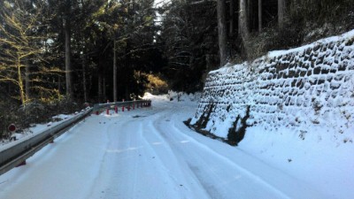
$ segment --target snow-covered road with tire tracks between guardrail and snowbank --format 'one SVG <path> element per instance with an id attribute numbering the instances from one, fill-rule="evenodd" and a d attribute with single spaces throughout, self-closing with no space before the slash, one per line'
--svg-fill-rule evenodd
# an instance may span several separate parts
<path id="1" fill-rule="evenodd" d="M 0 198 L 332 198 L 182 121 L 196 103 L 88 119 L 0 176 Z"/>

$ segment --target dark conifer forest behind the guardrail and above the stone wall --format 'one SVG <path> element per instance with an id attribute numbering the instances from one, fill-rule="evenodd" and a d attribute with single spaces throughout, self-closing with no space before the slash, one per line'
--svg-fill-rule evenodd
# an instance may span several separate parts
<path id="1" fill-rule="evenodd" d="M 206 74 L 354 28 L 354 0 L 4 0 L 0 132 L 83 103 L 203 89 Z"/>

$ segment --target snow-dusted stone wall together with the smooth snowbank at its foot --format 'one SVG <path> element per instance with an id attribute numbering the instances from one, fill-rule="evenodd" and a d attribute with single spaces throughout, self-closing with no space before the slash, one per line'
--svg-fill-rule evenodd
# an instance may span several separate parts
<path id="1" fill-rule="evenodd" d="M 223 138 L 247 126 L 239 149 L 352 198 L 354 30 L 212 71 L 190 124 Z"/>

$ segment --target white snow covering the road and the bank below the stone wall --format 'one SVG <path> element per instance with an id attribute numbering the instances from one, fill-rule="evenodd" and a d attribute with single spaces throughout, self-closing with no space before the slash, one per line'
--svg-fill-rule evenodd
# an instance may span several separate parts
<path id="1" fill-rule="evenodd" d="M 91 115 L 1 175 L 0 198 L 354 197 L 352 144 L 252 128 L 231 147 L 182 123 L 196 101 L 146 97 L 150 108 Z"/>

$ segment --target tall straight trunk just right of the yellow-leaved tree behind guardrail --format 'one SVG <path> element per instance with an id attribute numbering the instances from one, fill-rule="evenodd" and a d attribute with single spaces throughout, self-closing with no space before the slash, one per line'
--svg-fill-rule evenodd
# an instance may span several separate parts
<path id="1" fill-rule="evenodd" d="M 70 8 L 71 0 L 66 0 L 65 12 L 65 81 L 66 96 L 73 97 L 72 65 L 71 65 L 71 29 L 70 29 Z"/>

